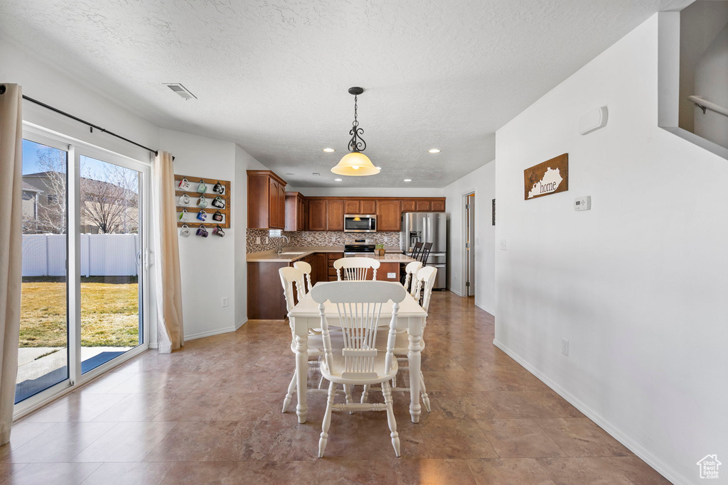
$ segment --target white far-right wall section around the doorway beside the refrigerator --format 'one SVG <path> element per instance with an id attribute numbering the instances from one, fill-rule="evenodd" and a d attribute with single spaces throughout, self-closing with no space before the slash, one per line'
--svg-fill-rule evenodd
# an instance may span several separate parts
<path id="1" fill-rule="evenodd" d="M 495 165 L 495 161 L 491 161 L 443 188 L 450 213 L 449 287 L 460 296 L 467 294 L 463 272 L 465 215 L 462 197 L 475 192 L 475 305 L 491 314 L 495 313 L 495 227 L 491 217 Z"/>

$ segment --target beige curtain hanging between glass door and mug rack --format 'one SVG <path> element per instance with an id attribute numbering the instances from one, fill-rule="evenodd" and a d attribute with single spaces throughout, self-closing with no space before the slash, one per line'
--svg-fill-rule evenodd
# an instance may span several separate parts
<path id="1" fill-rule="evenodd" d="M 159 353 L 170 353 L 184 345 L 182 324 L 182 279 L 175 209 L 175 172 L 172 155 L 160 151 L 154 159 L 155 239 L 154 268 L 157 276 L 157 322 Z"/>

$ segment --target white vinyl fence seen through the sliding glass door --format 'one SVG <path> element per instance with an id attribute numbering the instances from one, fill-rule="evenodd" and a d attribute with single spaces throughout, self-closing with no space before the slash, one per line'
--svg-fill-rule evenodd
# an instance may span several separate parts
<path id="1" fill-rule="evenodd" d="M 81 276 L 136 276 L 137 234 L 82 234 Z M 23 234 L 23 276 L 66 276 L 65 234 Z"/>

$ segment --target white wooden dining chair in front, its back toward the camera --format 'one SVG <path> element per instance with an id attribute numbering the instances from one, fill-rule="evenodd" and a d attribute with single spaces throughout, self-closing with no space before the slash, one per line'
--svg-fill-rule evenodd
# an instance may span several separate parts
<path id="1" fill-rule="evenodd" d="M 311 295 L 319 304 L 321 329 L 323 330 L 324 358 L 320 370 L 323 377 L 331 383 L 328 388 L 326 412 L 319 439 L 319 457 L 328 443 L 328 430 L 331 426 L 333 411 L 386 411 L 389 424 L 389 437 L 395 454 L 400 456 L 400 438 L 392 405 L 392 390 L 389 381 L 397 374 L 397 358 L 394 345 L 397 329 L 397 313 L 400 302 L 405 299 L 403 286 L 387 281 L 332 281 L 314 286 Z M 329 330 L 324 303 L 336 305 L 341 333 L 332 334 Z M 392 302 L 392 318 L 389 320 L 386 350 L 377 345 L 377 327 L 381 309 Z M 341 348 L 332 345 L 332 339 L 341 340 Z M 336 385 L 381 385 L 384 404 L 351 403 L 334 404 Z"/>

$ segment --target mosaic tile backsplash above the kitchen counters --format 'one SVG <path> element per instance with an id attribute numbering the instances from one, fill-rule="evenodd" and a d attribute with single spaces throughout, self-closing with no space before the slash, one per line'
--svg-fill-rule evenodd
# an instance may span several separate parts
<path id="1" fill-rule="evenodd" d="M 400 233 L 397 232 L 381 232 L 373 234 L 356 234 L 344 233 L 339 231 L 296 231 L 284 232 L 288 236 L 290 242 L 285 238 L 268 238 L 266 229 L 248 229 L 246 233 L 247 252 L 269 251 L 277 249 L 281 246 L 344 246 L 346 241 L 352 239 L 371 239 L 374 244 L 384 244 L 386 246 L 399 246 Z M 258 244 L 257 239 L 260 238 L 261 243 Z"/>

